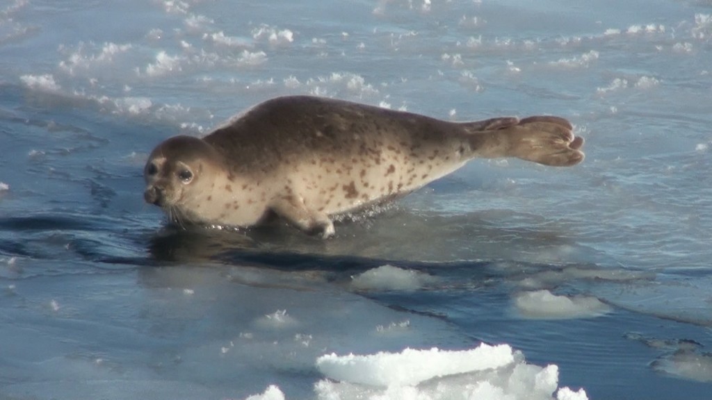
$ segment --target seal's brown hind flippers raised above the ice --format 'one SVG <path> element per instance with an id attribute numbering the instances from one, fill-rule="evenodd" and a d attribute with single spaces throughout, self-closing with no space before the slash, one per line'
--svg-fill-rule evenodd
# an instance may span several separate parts
<path id="1" fill-rule="evenodd" d="M 583 161 L 584 140 L 561 117 L 492 118 L 462 124 L 475 157 L 518 157 L 539 164 L 569 167 Z"/>

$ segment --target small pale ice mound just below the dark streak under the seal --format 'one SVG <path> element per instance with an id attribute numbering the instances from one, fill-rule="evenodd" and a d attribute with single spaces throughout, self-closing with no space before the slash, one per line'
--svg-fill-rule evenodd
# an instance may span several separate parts
<path id="1" fill-rule="evenodd" d="M 417 290 L 436 281 L 432 275 L 393 265 L 382 265 L 351 278 L 351 287 L 357 290 Z"/>

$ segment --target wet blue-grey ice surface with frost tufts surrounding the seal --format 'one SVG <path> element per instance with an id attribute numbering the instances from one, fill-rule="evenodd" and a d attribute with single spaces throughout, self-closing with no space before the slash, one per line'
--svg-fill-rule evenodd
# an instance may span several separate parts
<path id="1" fill-rule="evenodd" d="M 659 0 L 0 4 L 0 397 L 708 398 L 711 15 Z M 587 159 L 471 162 L 326 242 L 173 231 L 142 204 L 157 142 L 305 93 L 454 120 L 562 115 Z M 471 354 L 481 343 L 511 352 Z M 368 362 L 335 374 L 322 357 Z M 418 374 L 433 378 L 401 380 Z"/>

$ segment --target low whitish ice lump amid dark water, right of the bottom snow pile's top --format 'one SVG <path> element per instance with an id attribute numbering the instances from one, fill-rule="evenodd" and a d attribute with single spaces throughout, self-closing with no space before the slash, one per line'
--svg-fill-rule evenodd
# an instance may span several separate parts
<path id="1" fill-rule="evenodd" d="M 597 317 L 610 311 L 610 307 L 594 297 L 557 296 L 549 290 L 520 293 L 514 305 L 521 315 L 536 319 L 565 319 Z"/>

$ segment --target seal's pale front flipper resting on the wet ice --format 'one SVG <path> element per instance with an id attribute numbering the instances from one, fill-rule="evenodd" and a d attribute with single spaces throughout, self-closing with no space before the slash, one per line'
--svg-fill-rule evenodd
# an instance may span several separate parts
<path id="1" fill-rule="evenodd" d="M 269 208 L 301 231 L 318 233 L 325 239 L 334 236 L 334 223 L 329 216 L 308 209 L 301 196 L 290 194 L 280 197 L 272 201 Z"/>

